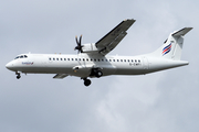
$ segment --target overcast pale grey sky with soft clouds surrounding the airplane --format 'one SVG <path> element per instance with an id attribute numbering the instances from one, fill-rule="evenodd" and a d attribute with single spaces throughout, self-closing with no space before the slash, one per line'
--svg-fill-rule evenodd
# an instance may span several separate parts
<path id="1" fill-rule="evenodd" d="M 0 1 L 1 132 L 198 132 L 199 1 Z M 111 55 L 139 55 L 163 45 L 170 32 L 185 36 L 190 64 L 142 76 L 92 79 L 22 75 L 4 65 L 22 53 L 74 52 L 75 35 L 97 42 L 125 19 L 136 22 Z"/>

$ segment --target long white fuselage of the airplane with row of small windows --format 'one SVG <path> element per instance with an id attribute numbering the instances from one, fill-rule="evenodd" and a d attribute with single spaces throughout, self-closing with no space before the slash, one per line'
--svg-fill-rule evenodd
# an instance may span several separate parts
<path id="1" fill-rule="evenodd" d="M 103 76 L 143 75 L 188 65 L 188 62 L 140 56 L 98 56 L 90 54 L 23 54 L 7 64 L 7 68 L 25 74 L 66 74 L 82 78 L 92 77 L 92 68 L 100 67 Z"/>

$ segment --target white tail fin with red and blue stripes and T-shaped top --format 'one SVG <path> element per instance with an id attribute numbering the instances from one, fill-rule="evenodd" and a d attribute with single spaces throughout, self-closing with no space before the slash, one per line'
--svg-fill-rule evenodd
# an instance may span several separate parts
<path id="1" fill-rule="evenodd" d="M 169 37 L 165 41 L 165 44 L 150 55 L 179 61 L 181 57 L 184 35 L 187 34 L 190 30 L 192 30 L 192 28 L 184 28 L 179 31 L 171 33 Z"/>

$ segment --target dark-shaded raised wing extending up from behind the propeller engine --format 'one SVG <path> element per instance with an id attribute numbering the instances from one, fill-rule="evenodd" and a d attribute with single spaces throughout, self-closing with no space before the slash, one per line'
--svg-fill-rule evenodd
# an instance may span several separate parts
<path id="1" fill-rule="evenodd" d="M 117 44 L 125 37 L 127 34 L 126 31 L 132 26 L 135 20 L 124 20 L 116 28 L 114 28 L 109 33 L 96 42 L 96 47 L 100 50 L 100 53 L 106 55 Z"/>

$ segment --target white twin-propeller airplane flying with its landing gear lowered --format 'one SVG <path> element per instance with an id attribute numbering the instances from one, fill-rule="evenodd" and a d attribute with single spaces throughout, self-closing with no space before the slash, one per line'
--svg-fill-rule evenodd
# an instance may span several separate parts
<path id="1" fill-rule="evenodd" d="M 20 79 L 24 74 L 55 74 L 53 78 L 67 76 L 80 77 L 85 86 L 88 78 L 101 78 L 109 75 L 145 75 L 169 68 L 188 65 L 180 61 L 184 35 L 192 28 L 184 28 L 169 34 L 164 44 L 153 53 L 137 56 L 107 55 L 126 36 L 127 30 L 136 20 L 122 21 L 96 43 L 82 44 L 82 35 L 75 37 L 77 54 L 20 54 L 6 67 L 15 73 Z"/>

